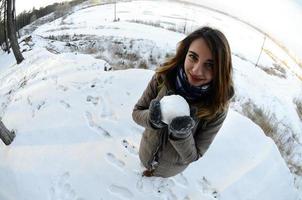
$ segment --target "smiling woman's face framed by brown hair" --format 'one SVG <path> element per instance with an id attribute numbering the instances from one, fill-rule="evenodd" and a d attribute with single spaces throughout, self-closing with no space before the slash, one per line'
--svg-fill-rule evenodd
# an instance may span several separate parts
<path id="1" fill-rule="evenodd" d="M 191 43 L 184 66 L 192 86 L 201 86 L 212 81 L 214 61 L 204 39 L 199 38 Z"/>

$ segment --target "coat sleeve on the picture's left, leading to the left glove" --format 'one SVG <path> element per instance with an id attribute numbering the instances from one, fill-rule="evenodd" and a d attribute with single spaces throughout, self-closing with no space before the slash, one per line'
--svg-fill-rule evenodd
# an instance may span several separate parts
<path id="1" fill-rule="evenodd" d="M 156 77 L 157 75 L 154 74 L 132 111 L 133 120 L 137 124 L 150 129 L 154 129 L 149 120 L 149 105 L 151 100 L 157 96 L 158 83 Z"/>

